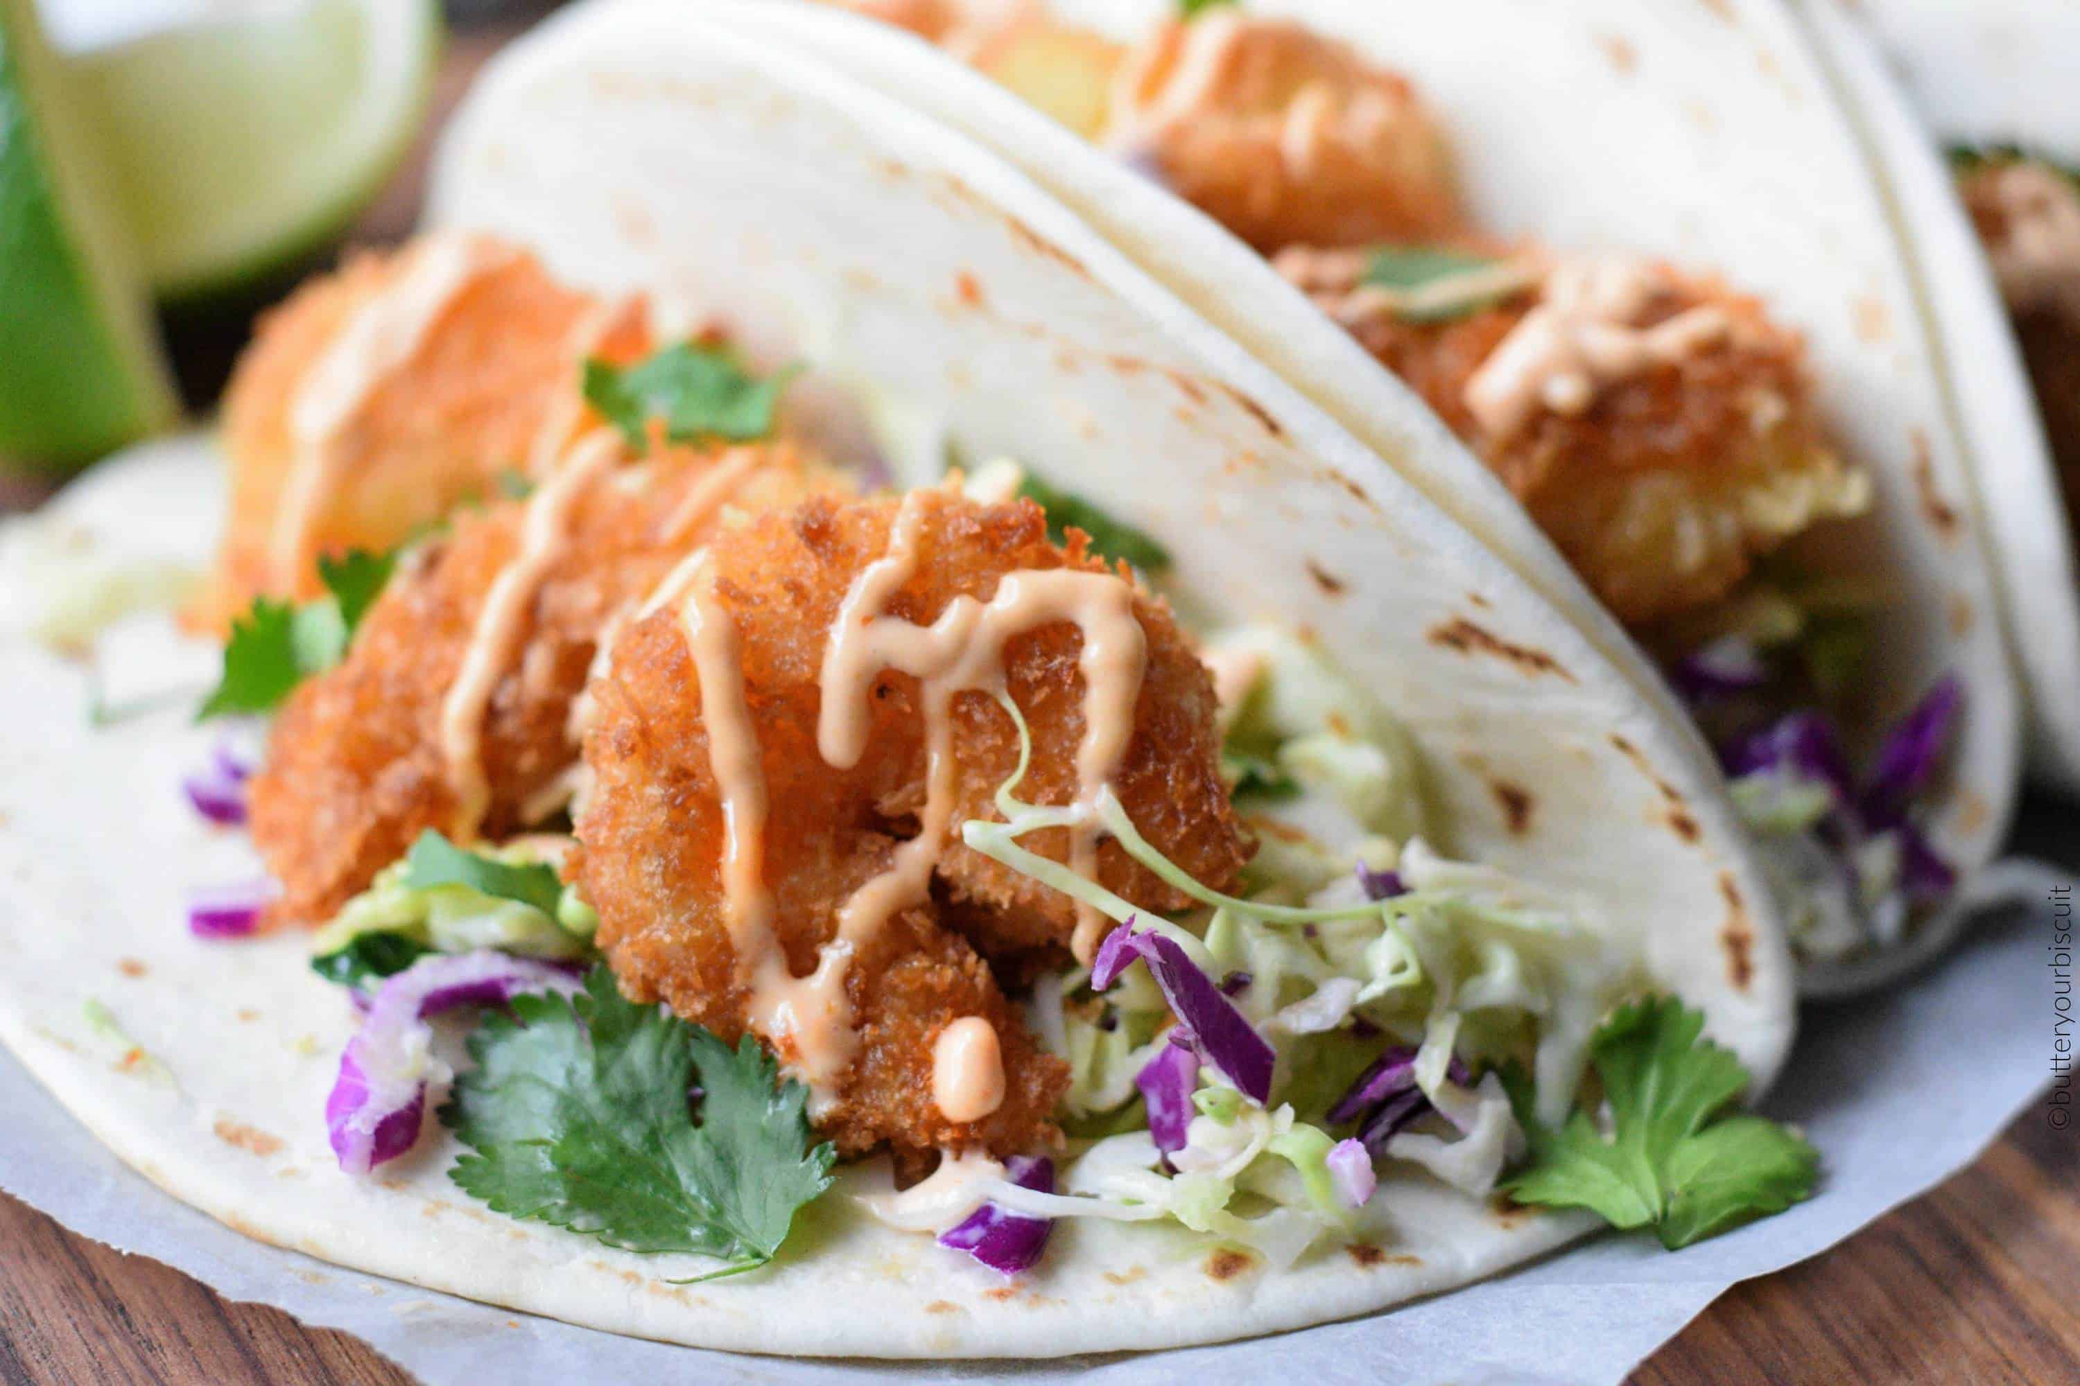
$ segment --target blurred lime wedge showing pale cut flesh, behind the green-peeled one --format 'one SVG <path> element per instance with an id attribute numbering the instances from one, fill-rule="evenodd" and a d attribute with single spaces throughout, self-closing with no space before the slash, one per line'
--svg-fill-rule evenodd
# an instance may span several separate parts
<path id="1" fill-rule="evenodd" d="M 439 46 L 435 0 L 306 0 L 77 54 L 160 295 L 235 291 L 324 247 L 410 148 Z"/>

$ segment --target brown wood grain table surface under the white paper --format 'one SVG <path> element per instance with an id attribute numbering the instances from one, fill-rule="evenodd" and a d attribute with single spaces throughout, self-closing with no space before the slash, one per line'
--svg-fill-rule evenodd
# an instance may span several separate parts
<path id="1" fill-rule="evenodd" d="M 539 6 L 537 6 L 539 8 Z M 520 25 L 456 35 L 445 114 Z M 354 233 L 406 235 L 424 141 Z M 191 399 L 220 387 L 258 303 L 168 326 Z M 35 490 L 0 482 L 0 509 Z M 2038 802 L 2034 850 L 2080 827 Z M 0 1114 L 4 1120 L 4 1114 Z M 1943 1120 L 1932 1112 L 1930 1120 Z M 1912 1132 L 1901 1132 L 1912 1139 Z M 1383 1374 L 1387 1380 L 1392 1371 Z M 347 1334 L 227 1303 L 166 1265 L 73 1236 L 0 1195 L 0 1382 L 6 1386 L 406 1386 Z M 1972 1168 L 1803 1265 L 1735 1286 L 1633 1378 L 1635 1386 L 2080 1386 L 2080 1130 L 2032 1108 Z"/>

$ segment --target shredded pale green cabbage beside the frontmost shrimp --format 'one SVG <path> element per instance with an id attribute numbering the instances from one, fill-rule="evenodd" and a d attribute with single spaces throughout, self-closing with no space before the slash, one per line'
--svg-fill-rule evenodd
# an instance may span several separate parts
<path id="1" fill-rule="evenodd" d="M 1325 1166 L 1325 1114 L 1387 1045 L 1419 1045 L 1416 1083 L 1439 1114 L 1433 1130 L 1392 1137 L 1387 1157 L 1485 1195 L 1520 1130 L 1491 1074 L 1473 1089 L 1450 1081 L 1454 1054 L 1468 1064 L 1529 1062 L 1537 1110 L 1564 1118 L 1589 1039 L 1637 989 L 1639 960 L 1581 902 L 1433 852 L 1421 835 L 1431 815 L 1410 738 L 1317 650 L 1263 630 L 1227 648 L 1260 669 L 1229 748 L 1300 785 L 1296 798 L 1263 804 L 1275 819 L 1252 821 L 1258 854 L 1242 896 L 1179 871 L 1111 792 L 1088 808 L 1019 800 L 1032 742 L 1009 698 L 1000 702 L 1021 754 L 996 794 L 1003 821 L 967 821 L 961 837 L 1117 923 L 1132 916 L 1177 939 L 1211 979 L 1231 981 L 1233 1004 L 1277 1054 L 1267 1103 L 1202 1068 L 1188 1143 L 1163 1160 L 1134 1085 L 1171 1024 L 1146 968 L 1127 968 L 1104 993 L 1090 991 L 1086 970 L 1040 979 L 1034 1029 L 1069 1062 L 1069 1130 L 1109 1135 L 1069 1166 L 1061 1195 L 1013 1191 L 998 1201 L 1048 1218 L 1169 1218 L 1288 1263 L 1350 1218 Z M 1019 842 L 1092 821 L 1200 908 L 1152 916 Z M 1398 871 L 1406 894 L 1367 900 L 1360 862 Z"/>

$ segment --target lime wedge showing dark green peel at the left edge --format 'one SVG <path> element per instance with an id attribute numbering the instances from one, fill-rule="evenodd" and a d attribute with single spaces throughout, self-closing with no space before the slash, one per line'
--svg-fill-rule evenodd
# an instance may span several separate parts
<path id="1" fill-rule="evenodd" d="M 77 96 L 33 0 L 0 0 L 0 461 L 52 470 L 179 411 Z"/>

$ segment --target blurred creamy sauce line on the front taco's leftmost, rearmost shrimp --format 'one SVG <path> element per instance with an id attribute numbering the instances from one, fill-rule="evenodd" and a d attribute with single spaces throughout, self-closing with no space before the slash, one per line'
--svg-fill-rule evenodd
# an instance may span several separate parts
<path id="1" fill-rule="evenodd" d="M 418 355 L 426 335 L 472 283 L 518 251 L 464 235 L 420 241 L 410 264 L 362 303 L 304 372 L 289 403 L 289 480 L 268 547 L 275 586 L 295 590 L 318 515 L 339 486 L 339 434 L 368 395 Z"/>

